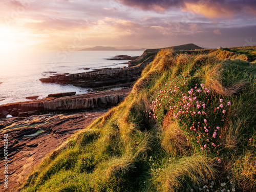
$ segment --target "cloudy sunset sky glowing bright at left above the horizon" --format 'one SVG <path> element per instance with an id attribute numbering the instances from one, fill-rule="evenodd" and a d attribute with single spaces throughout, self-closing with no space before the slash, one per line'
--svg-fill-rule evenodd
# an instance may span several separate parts
<path id="1" fill-rule="evenodd" d="M 256 45 L 255 0 L 1 0 L 0 51 Z"/>

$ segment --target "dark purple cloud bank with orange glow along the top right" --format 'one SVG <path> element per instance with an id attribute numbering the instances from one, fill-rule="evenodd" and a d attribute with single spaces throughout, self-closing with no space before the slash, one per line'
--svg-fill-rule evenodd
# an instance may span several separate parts
<path id="1" fill-rule="evenodd" d="M 165 12 L 169 9 L 202 14 L 208 18 L 231 17 L 240 13 L 256 15 L 256 1 L 250 0 L 114 0 L 123 5 L 142 9 L 144 11 Z"/>

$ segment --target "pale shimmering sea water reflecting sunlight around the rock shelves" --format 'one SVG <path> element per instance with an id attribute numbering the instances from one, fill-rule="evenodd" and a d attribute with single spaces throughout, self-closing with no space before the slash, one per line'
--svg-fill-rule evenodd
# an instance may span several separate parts
<path id="1" fill-rule="evenodd" d="M 52 93 L 87 93 L 87 88 L 42 83 L 40 78 L 57 73 L 83 73 L 99 68 L 128 66 L 128 60 L 108 60 L 116 55 L 139 56 L 143 51 L 33 52 L 0 55 L 0 105 L 28 101 L 28 96 L 47 97 Z M 84 70 L 90 68 L 90 70 Z M 2 82 L 2 83 L 1 83 Z"/>

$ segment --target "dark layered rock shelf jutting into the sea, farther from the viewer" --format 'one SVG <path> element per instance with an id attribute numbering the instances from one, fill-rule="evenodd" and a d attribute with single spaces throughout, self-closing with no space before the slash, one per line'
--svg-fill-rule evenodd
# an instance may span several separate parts
<path id="1" fill-rule="evenodd" d="M 39 79 L 41 82 L 73 84 L 73 86 L 93 89 L 110 89 L 117 87 L 131 87 L 133 82 L 138 79 L 145 66 L 153 61 L 157 51 L 147 52 L 139 57 L 131 57 L 127 55 L 117 55 L 114 60 L 129 61 L 128 68 L 106 68 L 96 71 L 69 74 L 69 75 L 54 75 Z"/>

